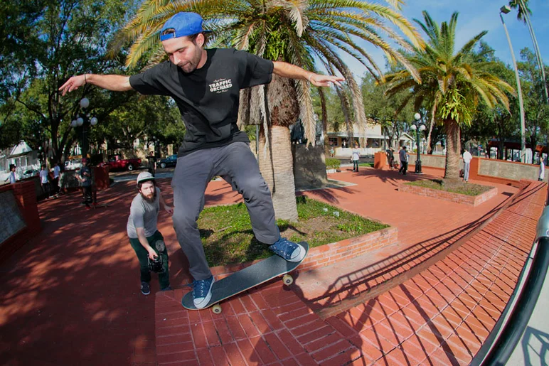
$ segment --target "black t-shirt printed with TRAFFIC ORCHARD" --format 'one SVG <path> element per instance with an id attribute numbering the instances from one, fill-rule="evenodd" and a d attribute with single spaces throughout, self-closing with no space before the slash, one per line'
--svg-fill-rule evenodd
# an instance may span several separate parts
<path id="1" fill-rule="evenodd" d="M 198 149 L 249 142 L 236 125 L 240 89 L 271 82 L 272 61 L 233 48 L 206 50 L 206 64 L 183 72 L 165 61 L 129 77 L 142 94 L 174 98 L 187 129 L 178 156 Z"/>

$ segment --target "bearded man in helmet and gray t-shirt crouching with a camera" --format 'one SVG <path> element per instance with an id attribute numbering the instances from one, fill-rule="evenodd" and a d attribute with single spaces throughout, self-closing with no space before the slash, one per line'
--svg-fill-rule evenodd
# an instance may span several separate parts
<path id="1" fill-rule="evenodd" d="M 161 291 L 171 290 L 170 276 L 168 272 L 168 251 L 164 244 L 164 237 L 156 229 L 160 205 L 170 215 L 174 214 L 174 208 L 166 205 L 160 188 L 156 187 L 154 176 L 144 171 L 137 176 L 137 190 L 139 193 L 132 200 L 129 209 L 127 233 L 129 244 L 137 254 L 141 271 L 141 292 L 144 295 L 151 293 L 151 270 L 149 260 L 154 261 L 161 256 L 162 269 L 159 272 Z"/>

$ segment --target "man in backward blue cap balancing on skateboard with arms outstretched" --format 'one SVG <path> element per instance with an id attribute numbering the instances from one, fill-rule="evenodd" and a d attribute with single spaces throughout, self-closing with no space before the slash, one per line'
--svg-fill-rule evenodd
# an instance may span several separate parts
<path id="1" fill-rule="evenodd" d="M 178 105 L 186 126 L 171 185 L 174 188 L 174 229 L 193 276 L 197 308 L 210 301 L 213 276 L 206 261 L 196 220 L 203 209 L 204 192 L 214 176 L 221 176 L 244 196 L 255 237 L 272 252 L 299 262 L 304 249 L 284 239 L 274 221 L 274 208 L 247 135 L 236 124 L 240 89 L 267 84 L 272 74 L 308 80 L 317 87 L 340 85 L 343 77 L 318 75 L 289 63 L 270 61 L 235 49 L 204 49 L 202 17 L 178 13 L 160 31 L 169 61 L 131 77 L 77 75 L 60 90 L 86 83 L 108 90 L 137 90 L 145 95 L 169 95 Z"/>

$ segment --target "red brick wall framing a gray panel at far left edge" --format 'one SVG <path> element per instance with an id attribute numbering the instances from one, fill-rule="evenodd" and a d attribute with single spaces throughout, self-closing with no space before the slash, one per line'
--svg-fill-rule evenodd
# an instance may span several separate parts
<path id="1" fill-rule="evenodd" d="M 36 191 L 34 181 L 23 181 L 15 184 L 3 185 L 0 192 L 13 190 L 17 206 L 21 212 L 26 227 L 12 235 L 0 244 L 0 262 L 3 262 L 17 249 L 23 247 L 32 237 L 42 230 L 38 206 L 36 205 Z"/>

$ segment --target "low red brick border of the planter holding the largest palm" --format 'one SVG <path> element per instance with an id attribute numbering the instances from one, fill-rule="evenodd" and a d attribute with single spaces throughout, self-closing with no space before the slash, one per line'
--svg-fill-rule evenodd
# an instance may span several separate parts
<path id="1" fill-rule="evenodd" d="M 350 239 L 341 240 L 341 242 L 314 247 L 309 250 L 307 258 L 305 258 L 303 263 L 298 267 L 298 270 L 311 271 L 311 269 L 326 267 L 330 264 L 358 257 L 371 250 L 393 244 L 397 241 L 397 238 L 398 229 L 396 227 L 387 227 L 366 235 L 361 235 L 360 237 L 351 237 Z M 248 267 L 255 262 L 258 261 L 213 267 L 211 271 L 220 279 L 233 272 L 240 271 L 240 269 Z"/>

